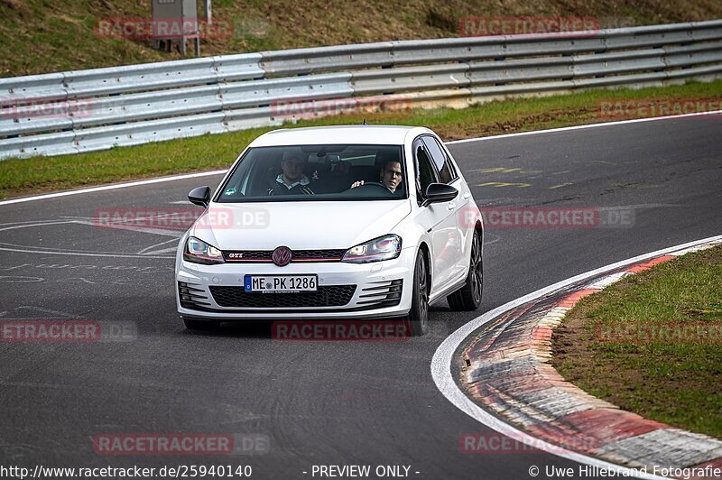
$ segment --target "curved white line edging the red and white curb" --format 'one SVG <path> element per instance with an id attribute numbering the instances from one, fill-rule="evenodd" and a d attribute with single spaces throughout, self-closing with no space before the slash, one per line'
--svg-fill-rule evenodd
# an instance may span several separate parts
<path id="1" fill-rule="evenodd" d="M 461 328 L 458 328 L 457 331 L 455 331 L 449 337 L 447 337 L 447 339 L 441 343 L 439 348 L 436 349 L 436 352 L 434 353 L 434 356 L 431 359 L 431 376 L 434 379 L 434 383 L 436 383 L 436 386 L 440 390 L 441 394 L 443 394 L 447 398 L 447 400 L 449 400 L 449 402 L 453 403 L 460 411 L 463 411 L 464 413 L 466 413 L 473 419 L 478 420 L 479 422 L 486 425 L 486 427 L 489 427 L 490 429 L 495 429 L 499 433 L 502 433 L 502 434 L 512 437 L 512 438 L 515 438 L 517 441 L 521 441 L 523 443 L 528 443 L 529 445 L 533 445 L 535 448 L 539 448 L 540 450 L 543 450 L 545 452 L 551 453 L 553 455 L 557 455 L 559 457 L 567 458 L 569 460 L 573 460 L 573 461 L 579 462 L 581 464 L 591 465 L 591 466 L 599 466 L 600 468 L 605 468 L 606 470 L 613 470 L 615 472 L 619 472 L 620 475 L 624 475 L 624 472 L 629 473 L 631 470 L 624 466 L 618 466 L 615 464 L 608 463 L 604 460 L 599 460 L 594 457 L 588 457 L 586 455 L 582 455 L 577 452 L 566 450 L 566 449 L 557 447 L 555 445 L 551 445 L 550 443 L 544 442 L 537 438 L 534 438 L 531 435 L 524 433 L 522 430 L 516 429 L 511 424 L 506 423 L 503 420 L 499 420 L 491 413 L 482 409 L 479 405 L 477 405 L 477 403 L 472 402 L 467 397 L 467 395 L 461 391 L 461 389 L 458 387 L 457 383 L 455 382 L 455 380 L 451 374 L 451 365 L 452 365 L 452 362 L 454 361 L 454 352 L 456 352 L 456 350 L 458 349 L 458 346 L 460 346 L 467 339 L 467 337 L 469 337 L 475 330 L 477 330 L 477 328 L 481 327 L 486 322 L 503 314 L 505 311 L 507 311 L 509 309 L 514 309 L 514 308 L 518 307 L 519 305 L 526 303 L 527 301 L 538 299 L 538 298 L 550 293 L 551 291 L 555 291 L 562 287 L 566 287 L 575 282 L 580 282 L 582 280 L 586 280 L 595 275 L 598 275 L 598 274 L 601 274 L 604 272 L 608 272 L 610 270 L 615 270 L 617 268 L 623 267 L 630 263 L 641 262 L 643 260 L 647 260 L 649 258 L 653 258 L 653 257 L 663 255 L 663 254 L 668 254 L 668 253 L 674 252 L 676 250 L 680 250 L 683 248 L 689 248 L 691 246 L 696 246 L 696 245 L 702 245 L 702 244 L 706 244 L 708 242 L 714 242 L 714 241 L 718 241 L 718 240 L 722 240 L 722 235 L 710 236 L 709 238 L 704 238 L 702 240 L 696 240 L 694 242 L 690 242 L 687 244 L 671 246 L 669 248 L 657 250 L 656 252 L 652 252 L 651 254 L 638 255 L 633 258 L 629 258 L 627 260 L 623 260 L 623 261 L 617 262 L 617 263 L 612 263 L 612 264 L 597 268 L 596 270 L 592 270 L 591 272 L 581 273 L 581 274 L 571 277 L 567 280 L 563 280 L 561 282 L 554 283 L 553 285 L 544 287 L 541 290 L 534 291 L 532 293 L 524 295 L 523 297 L 521 297 L 519 299 L 512 300 L 508 303 L 505 303 L 501 307 L 497 307 L 491 311 L 487 311 L 485 314 L 483 314 L 477 318 L 474 318 L 473 320 L 469 321 L 466 325 L 462 326 Z M 664 478 L 662 476 L 651 475 L 651 474 L 638 475 L 638 477 L 639 478 Z"/>

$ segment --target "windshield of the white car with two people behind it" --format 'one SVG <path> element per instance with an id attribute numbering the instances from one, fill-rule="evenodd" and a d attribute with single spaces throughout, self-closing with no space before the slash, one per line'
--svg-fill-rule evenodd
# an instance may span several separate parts
<path id="1" fill-rule="evenodd" d="M 219 190 L 221 203 L 406 198 L 400 145 L 249 148 Z"/>

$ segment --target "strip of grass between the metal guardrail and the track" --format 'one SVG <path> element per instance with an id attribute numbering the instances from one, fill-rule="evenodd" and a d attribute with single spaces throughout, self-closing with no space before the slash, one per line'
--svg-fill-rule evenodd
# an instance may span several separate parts
<path id="1" fill-rule="evenodd" d="M 722 98 L 722 81 L 641 90 L 596 90 L 554 97 L 495 101 L 464 109 L 412 110 L 406 114 L 334 116 L 295 125 L 423 125 L 444 140 L 582 125 L 606 121 L 597 115 L 600 100 L 624 98 Z M 119 147 L 57 157 L 0 161 L 0 198 L 70 189 L 180 172 L 227 168 L 256 136 L 273 128 L 255 128 L 162 143 Z"/>

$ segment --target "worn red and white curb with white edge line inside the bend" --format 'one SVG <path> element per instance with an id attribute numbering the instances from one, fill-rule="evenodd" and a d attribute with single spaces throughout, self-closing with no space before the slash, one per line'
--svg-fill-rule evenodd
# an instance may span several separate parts
<path id="1" fill-rule="evenodd" d="M 439 346 L 431 363 L 434 382 L 486 426 L 580 463 L 643 478 L 661 478 L 650 474 L 653 466 L 722 467 L 722 441 L 621 411 L 566 382 L 549 363 L 552 329 L 579 299 L 628 274 L 720 243 L 717 235 L 643 254 L 491 310 Z M 467 392 L 452 376 L 452 365 Z"/>

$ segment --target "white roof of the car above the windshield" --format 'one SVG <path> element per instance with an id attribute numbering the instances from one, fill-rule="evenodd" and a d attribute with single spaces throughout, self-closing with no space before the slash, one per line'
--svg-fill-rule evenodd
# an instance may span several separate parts
<path id="1" fill-rule="evenodd" d="M 428 134 L 428 128 L 402 125 L 334 125 L 273 130 L 256 138 L 249 146 L 314 145 L 356 143 L 403 145 L 409 134 Z"/>

